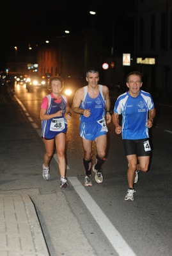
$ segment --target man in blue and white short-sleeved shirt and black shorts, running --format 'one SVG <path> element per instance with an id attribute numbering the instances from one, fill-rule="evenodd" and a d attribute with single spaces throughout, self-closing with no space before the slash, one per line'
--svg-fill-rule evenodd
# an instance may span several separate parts
<path id="1" fill-rule="evenodd" d="M 129 90 L 121 94 L 114 105 L 113 123 L 115 132 L 122 135 L 125 155 L 129 163 L 127 180 L 129 189 L 125 200 L 134 200 L 134 183 L 139 171 L 148 171 L 150 163 L 150 141 L 148 128 L 152 127 L 155 107 L 152 96 L 143 90 L 141 74 L 137 71 L 127 75 Z M 122 115 L 121 126 L 119 115 Z"/>

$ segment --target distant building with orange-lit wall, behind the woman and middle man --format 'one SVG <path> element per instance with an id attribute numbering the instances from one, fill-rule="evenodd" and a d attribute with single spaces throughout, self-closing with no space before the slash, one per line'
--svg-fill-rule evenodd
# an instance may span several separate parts
<path id="1" fill-rule="evenodd" d="M 99 61 L 98 47 L 101 46 L 95 33 L 90 35 L 92 39 L 88 35 L 90 30 L 80 35 L 57 37 L 51 39 L 46 46 L 38 47 L 38 73 L 50 73 L 63 78 L 85 76 L 86 68 Z"/>

